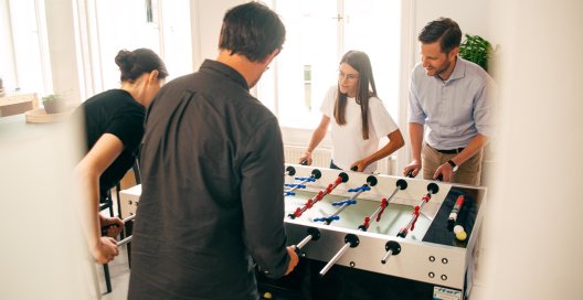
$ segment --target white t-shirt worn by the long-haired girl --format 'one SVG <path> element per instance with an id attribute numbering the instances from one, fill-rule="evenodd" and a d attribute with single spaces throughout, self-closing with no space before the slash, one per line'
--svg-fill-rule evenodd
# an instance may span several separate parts
<path id="1" fill-rule="evenodd" d="M 379 139 L 399 129 L 381 99 L 369 99 L 369 139 L 362 138 L 362 119 L 360 105 L 356 98 L 347 98 L 346 124 L 339 126 L 333 117 L 338 87 L 333 85 L 326 93 L 320 111 L 330 118 L 332 132 L 332 161 L 342 170 L 350 170 L 356 161 L 369 157 L 379 150 Z M 377 162 L 364 169 L 365 173 L 377 170 Z"/>

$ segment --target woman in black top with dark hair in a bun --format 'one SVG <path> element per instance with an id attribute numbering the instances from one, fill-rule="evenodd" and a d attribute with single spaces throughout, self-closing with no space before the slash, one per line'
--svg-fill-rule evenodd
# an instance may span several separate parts
<path id="1" fill-rule="evenodd" d="M 87 153 L 75 172 L 81 181 L 85 233 L 93 257 L 107 264 L 118 255 L 117 236 L 124 226 L 118 217 L 99 214 L 98 203 L 131 168 L 144 136 L 146 107 L 168 76 L 160 57 L 148 49 L 121 50 L 115 58 L 121 72 L 121 87 L 97 94 L 77 108 L 85 119 Z M 112 224 L 107 236 L 100 227 Z"/>

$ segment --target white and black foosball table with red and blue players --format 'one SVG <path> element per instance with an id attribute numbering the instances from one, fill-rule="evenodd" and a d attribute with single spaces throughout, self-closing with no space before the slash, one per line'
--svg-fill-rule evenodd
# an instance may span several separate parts
<path id="1" fill-rule="evenodd" d="M 271 299 L 466 299 L 485 188 L 287 164 L 284 218 L 298 267 L 257 270 Z M 140 186 L 123 191 L 123 216 Z"/>

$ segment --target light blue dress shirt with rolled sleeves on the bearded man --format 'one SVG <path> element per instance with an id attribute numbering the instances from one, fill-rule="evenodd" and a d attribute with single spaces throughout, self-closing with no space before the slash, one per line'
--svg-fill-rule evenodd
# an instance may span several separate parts
<path id="1" fill-rule="evenodd" d="M 424 140 L 433 148 L 465 148 L 477 133 L 491 137 L 496 97 L 494 79 L 477 64 L 458 56 L 444 82 L 418 63 L 411 75 L 409 122 L 425 125 Z"/>

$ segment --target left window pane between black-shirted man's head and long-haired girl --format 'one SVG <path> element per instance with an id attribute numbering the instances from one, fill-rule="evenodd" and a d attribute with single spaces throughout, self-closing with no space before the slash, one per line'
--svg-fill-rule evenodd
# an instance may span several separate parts
<path id="1" fill-rule="evenodd" d="M 311 128 L 314 119 L 321 117 L 319 108 L 326 90 L 336 83 L 336 1 L 276 2 L 287 31 L 284 51 L 276 58 L 279 122 Z M 273 85 L 265 79 L 259 88 Z"/>

